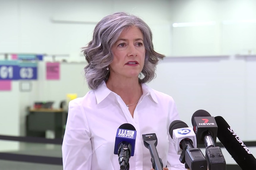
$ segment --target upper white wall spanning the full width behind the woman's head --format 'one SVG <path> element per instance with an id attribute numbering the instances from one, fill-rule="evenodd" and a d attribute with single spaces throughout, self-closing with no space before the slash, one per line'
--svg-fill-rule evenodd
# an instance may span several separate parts
<path id="1" fill-rule="evenodd" d="M 68 54 L 84 61 L 80 48 L 104 16 L 126 11 L 151 27 L 154 46 L 167 56 L 256 53 L 256 24 L 225 25 L 225 20 L 256 19 L 254 0 L 161 1 L 3 1 L 1 52 Z M 98 5 L 100 4 L 100 5 Z M 232 6 L 232 8 L 231 8 Z M 216 22 L 213 26 L 172 27 L 174 22 Z M 62 58 L 59 58 L 62 59 Z"/>

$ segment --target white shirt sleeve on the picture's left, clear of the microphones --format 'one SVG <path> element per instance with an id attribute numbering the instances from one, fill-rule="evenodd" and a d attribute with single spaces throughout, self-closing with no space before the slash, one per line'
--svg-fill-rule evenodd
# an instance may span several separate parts
<path id="1" fill-rule="evenodd" d="M 91 134 L 85 112 L 77 99 L 69 102 L 62 143 L 63 170 L 91 169 Z"/>

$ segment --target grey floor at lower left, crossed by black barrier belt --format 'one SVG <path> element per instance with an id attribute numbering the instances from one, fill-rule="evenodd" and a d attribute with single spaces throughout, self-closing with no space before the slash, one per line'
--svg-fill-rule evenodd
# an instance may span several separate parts
<path id="1" fill-rule="evenodd" d="M 61 145 L 20 143 L 20 150 L 9 153 L 61 158 Z M 63 170 L 59 165 L 0 160 L 0 170 Z"/>

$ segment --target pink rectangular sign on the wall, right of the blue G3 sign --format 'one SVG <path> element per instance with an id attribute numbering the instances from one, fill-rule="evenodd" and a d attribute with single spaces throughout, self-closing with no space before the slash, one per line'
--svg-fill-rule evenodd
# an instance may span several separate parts
<path id="1" fill-rule="evenodd" d="M 46 63 L 46 80 L 59 80 L 60 79 L 60 63 L 47 62 Z"/>

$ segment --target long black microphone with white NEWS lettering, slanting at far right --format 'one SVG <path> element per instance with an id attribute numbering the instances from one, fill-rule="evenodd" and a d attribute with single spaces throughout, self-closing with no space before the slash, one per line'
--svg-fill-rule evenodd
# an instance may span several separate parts
<path id="1" fill-rule="evenodd" d="M 221 116 L 215 117 L 218 125 L 217 137 L 242 170 L 256 168 L 256 159 Z"/>

